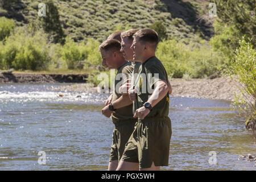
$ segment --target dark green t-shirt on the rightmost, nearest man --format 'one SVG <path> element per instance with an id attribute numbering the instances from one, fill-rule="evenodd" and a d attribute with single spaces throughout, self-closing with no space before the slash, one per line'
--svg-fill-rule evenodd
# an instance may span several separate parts
<path id="1" fill-rule="evenodd" d="M 164 80 L 168 83 L 166 69 L 157 57 L 150 57 L 139 67 L 139 73 L 135 81 L 135 88 L 138 90 L 136 103 L 133 105 L 133 110 L 142 107 L 148 98 L 151 96 L 155 83 L 159 80 Z M 169 94 L 156 104 L 147 117 L 167 117 L 169 114 Z M 147 118 L 146 117 L 146 118 Z"/>

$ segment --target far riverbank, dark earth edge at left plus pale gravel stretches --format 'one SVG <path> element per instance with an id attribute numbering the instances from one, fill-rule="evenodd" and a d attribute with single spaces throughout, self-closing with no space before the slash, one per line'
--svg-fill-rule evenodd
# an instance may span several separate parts
<path id="1" fill-rule="evenodd" d="M 63 85 L 53 88 L 59 92 L 97 92 L 97 87 L 86 83 L 88 74 L 52 74 L 52 73 L 0 73 L 0 83 L 54 83 L 66 82 L 70 85 Z M 240 94 L 241 84 L 232 78 L 220 77 L 214 79 L 189 79 L 172 78 L 172 97 L 195 97 L 218 100 L 233 101 L 236 94 Z"/>

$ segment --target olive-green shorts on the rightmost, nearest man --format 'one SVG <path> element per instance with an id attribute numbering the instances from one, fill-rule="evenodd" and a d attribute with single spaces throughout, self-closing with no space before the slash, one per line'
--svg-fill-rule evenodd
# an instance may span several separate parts
<path id="1" fill-rule="evenodd" d="M 135 124 L 135 130 L 125 146 L 121 160 L 139 163 L 140 168 L 168 166 L 171 119 L 145 118 Z"/>

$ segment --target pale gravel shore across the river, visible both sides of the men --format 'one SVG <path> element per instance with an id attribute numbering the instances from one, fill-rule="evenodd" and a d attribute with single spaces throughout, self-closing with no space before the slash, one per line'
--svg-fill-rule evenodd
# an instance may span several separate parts
<path id="1" fill-rule="evenodd" d="M 240 94 L 241 85 L 231 78 L 220 77 L 210 79 L 172 78 L 172 97 L 195 97 L 218 100 L 234 100 L 235 94 Z M 72 84 L 53 88 L 60 92 L 97 92 L 92 84 Z"/>

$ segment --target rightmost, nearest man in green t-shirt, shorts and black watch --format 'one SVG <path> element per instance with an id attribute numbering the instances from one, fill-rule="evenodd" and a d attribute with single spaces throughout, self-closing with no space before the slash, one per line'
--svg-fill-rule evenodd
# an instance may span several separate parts
<path id="1" fill-rule="evenodd" d="M 168 166 L 171 120 L 169 112 L 168 76 L 166 69 L 155 57 L 158 34 L 144 28 L 134 34 L 135 61 L 139 61 L 135 89 L 130 98 L 134 105 L 135 129 L 126 144 L 117 170 L 159 170 Z M 137 90 L 137 94 L 135 93 Z"/>

